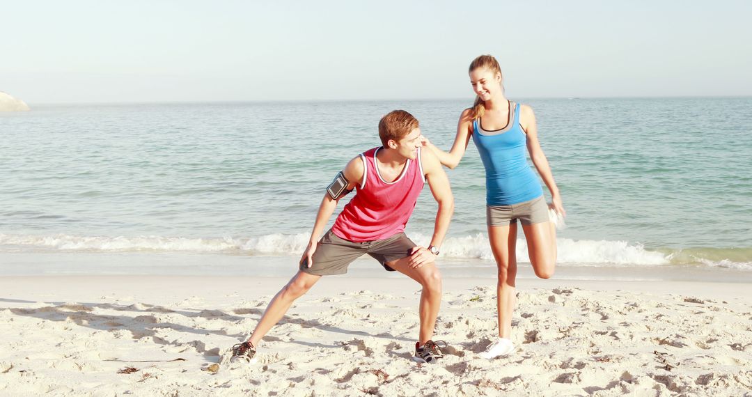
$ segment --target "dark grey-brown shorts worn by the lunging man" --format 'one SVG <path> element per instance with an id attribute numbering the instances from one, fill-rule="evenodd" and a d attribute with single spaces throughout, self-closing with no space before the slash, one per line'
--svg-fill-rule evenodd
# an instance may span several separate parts
<path id="1" fill-rule="evenodd" d="M 339 238 L 329 230 L 317 244 L 312 258 L 314 265 L 309 268 L 308 262 L 303 261 L 300 270 L 317 276 L 345 274 L 350 263 L 367 253 L 381 262 L 384 269 L 394 271 L 387 262 L 410 256 L 410 250 L 416 246 L 405 233 L 398 233 L 384 240 L 354 242 Z"/>

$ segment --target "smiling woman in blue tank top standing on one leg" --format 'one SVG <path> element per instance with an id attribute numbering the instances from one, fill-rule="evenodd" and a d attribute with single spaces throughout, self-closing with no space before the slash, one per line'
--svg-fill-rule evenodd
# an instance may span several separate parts
<path id="1" fill-rule="evenodd" d="M 514 351 L 510 336 L 517 276 L 518 219 L 535 274 L 549 278 L 556 266 L 556 227 L 549 218 L 541 183 L 527 165 L 525 148 L 551 193 L 548 207 L 561 217 L 566 213 L 548 160 L 538 143 L 532 108 L 505 98 L 502 71 L 493 56 L 478 56 L 470 64 L 469 74 L 478 97 L 474 107 L 465 109 L 459 117 L 452 149 L 444 152 L 428 139 L 424 139 L 423 144 L 437 154 L 441 164 L 454 168 L 472 137 L 486 168 L 488 237 L 499 268 L 496 287 L 499 338 L 481 356 L 493 359 Z"/>

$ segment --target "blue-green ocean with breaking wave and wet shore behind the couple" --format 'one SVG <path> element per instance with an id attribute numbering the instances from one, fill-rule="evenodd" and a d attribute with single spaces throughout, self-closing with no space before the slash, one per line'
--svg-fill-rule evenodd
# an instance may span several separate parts
<path id="1" fill-rule="evenodd" d="M 752 280 L 752 98 L 511 99 L 535 110 L 562 192 L 559 268 Z M 448 150 L 471 102 L 32 104 L 0 113 L 0 274 L 292 275 L 324 188 L 379 145 L 382 115 L 411 112 Z M 447 174 L 456 210 L 438 263 L 450 277 L 493 277 L 472 142 Z M 426 187 L 407 227 L 418 244 L 428 243 L 435 211 Z"/>

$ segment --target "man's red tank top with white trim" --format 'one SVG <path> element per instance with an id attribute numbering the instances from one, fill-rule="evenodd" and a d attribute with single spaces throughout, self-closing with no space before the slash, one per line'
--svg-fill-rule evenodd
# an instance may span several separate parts
<path id="1" fill-rule="evenodd" d="M 348 241 L 374 241 L 390 238 L 405 231 L 418 195 L 426 183 L 420 148 L 417 160 L 408 159 L 402 174 L 391 183 L 384 181 L 376 165 L 374 147 L 360 156 L 365 166 L 362 182 L 335 220 L 332 232 Z"/>

